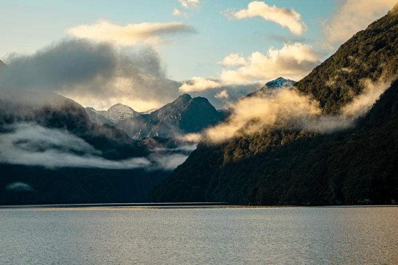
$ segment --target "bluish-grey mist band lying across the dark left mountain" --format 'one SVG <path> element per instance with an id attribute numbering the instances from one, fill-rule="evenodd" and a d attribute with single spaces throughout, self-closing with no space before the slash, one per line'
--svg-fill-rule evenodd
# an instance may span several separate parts
<path id="1" fill-rule="evenodd" d="M 67 130 L 33 123 L 14 124 L 0 135 L 0 161 L 10 164 L 56 168 L 172 170 L 188 155 L 152 153 L 147 157 L 109 160 L 101 152 Z M 15 185 L 14 185 L 15 186 Z M 21 185 L 19 185 L 21 186 Z M 17 187 L 17 186 L 15 186 Z"/>

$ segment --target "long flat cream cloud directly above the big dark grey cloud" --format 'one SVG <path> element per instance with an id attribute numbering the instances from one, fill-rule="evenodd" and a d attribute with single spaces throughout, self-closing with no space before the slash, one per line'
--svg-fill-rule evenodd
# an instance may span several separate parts
<path id="1" fill-rule="evenodd" d="M 195 32 L 196 29 L 191 24 L 178 21 L 143 22 L 121 26 L 100 20 L 91 25 L 79 25 L 67 29 L 68 34 L 77 38 L 110 42 L 121 46 L 157 45 L 166 42 L 170 36 Z"/>

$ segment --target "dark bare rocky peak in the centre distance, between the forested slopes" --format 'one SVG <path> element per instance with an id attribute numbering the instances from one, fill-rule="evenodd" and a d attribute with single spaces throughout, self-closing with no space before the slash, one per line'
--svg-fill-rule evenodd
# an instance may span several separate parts
<path id="1" fill-rule="evenodd" d="M 134 139 L 175 137 L 200 132 L 222 121 L 220 114 L 204 97 L 180 95 L 175 101 L 149 114 L 141 114 L 115 124 Z"/>

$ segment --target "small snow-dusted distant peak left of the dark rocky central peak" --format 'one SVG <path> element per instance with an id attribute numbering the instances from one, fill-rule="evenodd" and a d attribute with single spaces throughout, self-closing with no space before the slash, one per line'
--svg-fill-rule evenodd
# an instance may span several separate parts
<path id="1" fill-rule="evenodd" d="M 94 120 L 96 120 L 99 122 L 103 122 L 102 124 L 104 123 L 109 124 L 108 122 L 114 124 L 117 123 L 118 121 L 134 117 L 139 114 L 139 112 L 133 110 L 129 106 L 120 103 L 113 105 L 107 111 L 97 111 L 91 107 L 87 107 L 85 109 L 87 111 L 87 114 L 89 114 L 90 118 L 91 117 L 93 118 L 91 119 L 93 122 L 95 122 Z M 95 115 L 94 113 L 104 117 L 105 119 L 101 119 L 100 117 L 98 117 L 98 115 Z"/>

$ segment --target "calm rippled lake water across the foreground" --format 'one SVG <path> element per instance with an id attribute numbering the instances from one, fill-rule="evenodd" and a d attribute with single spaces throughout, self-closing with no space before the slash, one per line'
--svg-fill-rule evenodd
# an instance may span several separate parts
<path id="1" fill-rule="evenodd" d="M 398 264 L 398 208 L 0 209 L 0 264 Z"/>

